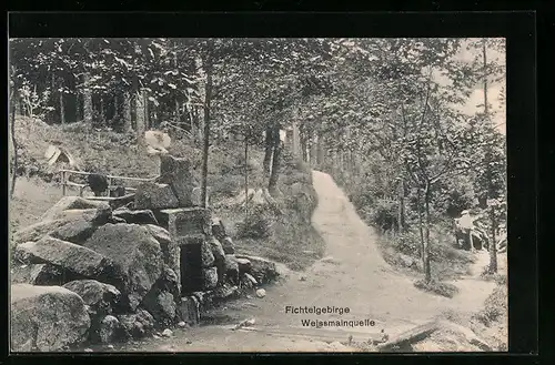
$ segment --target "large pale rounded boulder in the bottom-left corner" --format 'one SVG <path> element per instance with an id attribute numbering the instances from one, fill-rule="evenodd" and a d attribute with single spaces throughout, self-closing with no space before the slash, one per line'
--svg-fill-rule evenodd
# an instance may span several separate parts
<path id="1" fill-rule="evenodd" d="M 81 343 L 91 325 L 83 300 L 61 286 L 11 286 L 11 349 L 31 339 L 41 352 Z"/>

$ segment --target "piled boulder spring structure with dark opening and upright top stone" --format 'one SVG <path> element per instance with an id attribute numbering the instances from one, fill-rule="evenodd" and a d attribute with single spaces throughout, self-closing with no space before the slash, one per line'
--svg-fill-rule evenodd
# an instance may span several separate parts
<path id="1" fill-rule="evenodd" d="M 235 255 L 198 192 L 189 162 L 167 155 L 160 179 L 134 196 L 110 205 L 64 196 L 13 234 L 12 351 L 108 344 L 195 325 L 203 308 L 278 276 L 274 263 Z"/>

